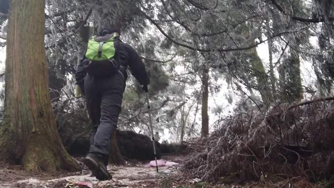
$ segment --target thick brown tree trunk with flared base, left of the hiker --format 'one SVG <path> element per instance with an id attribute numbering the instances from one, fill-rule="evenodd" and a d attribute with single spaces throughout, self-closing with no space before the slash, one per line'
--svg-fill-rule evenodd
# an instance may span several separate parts
<path id="1" fill-rule="evenodd" d="M 59 138 L 51 109 L 44 0 L 10 2 L 0 159 L 19 163 L 25 170 L 76 170 L 76 162 Z"/>

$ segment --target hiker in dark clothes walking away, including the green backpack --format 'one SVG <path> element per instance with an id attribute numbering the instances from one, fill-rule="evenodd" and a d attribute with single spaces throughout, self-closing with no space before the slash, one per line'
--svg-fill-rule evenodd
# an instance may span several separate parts
<path id="1" fill-rule="evenodd" d="M 84 164 L 98 180 L 111 179 L 106 166 L 111 135 L 116 131 L 121 111 L 127 66 L 139 84 L 143 85 L 143 90 L 148 92 L 149 78 L 145 65 L 137 52 L 120 40 L 119 33 L 113 27 L 106 27 L 99 36 L 89 40 L 86 55 L 75 73 L 77 95 L 85 96 L 93 125 L 90 149 Z"/>

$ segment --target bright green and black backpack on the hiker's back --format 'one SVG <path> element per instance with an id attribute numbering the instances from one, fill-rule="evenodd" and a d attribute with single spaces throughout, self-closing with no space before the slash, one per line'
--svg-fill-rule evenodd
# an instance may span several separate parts
<path id="1" fill-rule="evenodd" d="M 93 36 L 88 41 L 86 59 L 83 62 L 88 74 L 93 77 L 105 77 L 117 72 L 120 64 L 114 59 L 116 52 L 114 42 L 118 36 L 118 33 Z"/>

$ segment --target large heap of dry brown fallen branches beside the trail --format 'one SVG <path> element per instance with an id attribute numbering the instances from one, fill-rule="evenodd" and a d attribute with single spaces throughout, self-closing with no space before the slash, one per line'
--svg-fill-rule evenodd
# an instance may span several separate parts
<path id="1" fill-rule="evenodd" d="M 226 118 L 203 143 L 205 148 L 200 154 L 194 153 L 182 167 L 182 172 L 187 177 L 217 183 L 259 180 L 278 174 L 296 177 L 283 184 L 297 177 L 310 181 L 329 179 L 334 171 L 334 104 L 315 102 L 330 100 L 334 98 L 290 107 L 280 104 L 267 113 L 252 111 Z M 305 104 L 312 107 L 302 106 Z M 301 107 L 291 110 L 296 106 Z"/>

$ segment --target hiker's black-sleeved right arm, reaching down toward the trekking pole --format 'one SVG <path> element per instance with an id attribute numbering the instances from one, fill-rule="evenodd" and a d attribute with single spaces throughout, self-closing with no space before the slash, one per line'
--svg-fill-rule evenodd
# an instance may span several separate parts
<path id="1" fill-rule="evenodd" d="M 146 72 L 145 65 L 141 58 L 139 57 L 138 53 L 135 49 L 133 49 L 130 45 L 126 44 L 126 49 L 129 55 L 129 67 L 132 72 L 132 75 L 137 79 L 139 84 L 141 85 L 148 85 L 149 78 Z"/>

